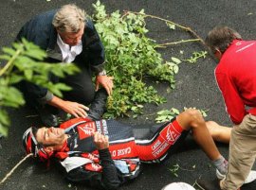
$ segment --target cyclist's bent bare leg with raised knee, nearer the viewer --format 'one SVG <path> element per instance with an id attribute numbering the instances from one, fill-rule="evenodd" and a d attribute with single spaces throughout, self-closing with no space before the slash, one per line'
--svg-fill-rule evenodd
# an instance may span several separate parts
<path id="1" fill-rule="evenodd" d="M 210 160 L 214 161 L 221 157 L 219 150 L 210 136 L 206 122 L 199 111 L 188 109 L 185 112 L 181 112 L 176 117 L 176 120 L 184 130 L 190 130 L 192 128 L 193 139 L 202 147 Z"/>

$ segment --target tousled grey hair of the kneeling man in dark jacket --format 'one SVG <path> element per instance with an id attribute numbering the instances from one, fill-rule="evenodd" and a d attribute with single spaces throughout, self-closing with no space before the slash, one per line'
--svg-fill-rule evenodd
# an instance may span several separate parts
<path id="1" fill-rule="evenodd" d="M 60 32 L 78 32 L 86 20 L 85 11 L 74 4 L 64 5 L 54 15 L 52 25 Z"/>

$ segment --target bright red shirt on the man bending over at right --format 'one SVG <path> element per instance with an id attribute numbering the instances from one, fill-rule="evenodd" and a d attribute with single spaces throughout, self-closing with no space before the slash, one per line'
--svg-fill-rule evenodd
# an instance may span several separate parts
<path id="1" fill-rule="evenodd" d="M 233 41 L 215 77 L 233 123 L 240 124 L 248 112 L 256 115 L 256 41 Z"/>

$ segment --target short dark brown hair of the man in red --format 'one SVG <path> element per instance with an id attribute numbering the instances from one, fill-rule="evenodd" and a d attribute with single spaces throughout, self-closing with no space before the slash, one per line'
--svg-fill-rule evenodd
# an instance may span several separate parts
<path id="1" fill-rule="evenodd" d="M 216 26 L 210 30 L 205 42 L 213 53 L 216 49 L 224 53 L 234 40 L 242 40 L 237 31 L 228 26 Z"/>

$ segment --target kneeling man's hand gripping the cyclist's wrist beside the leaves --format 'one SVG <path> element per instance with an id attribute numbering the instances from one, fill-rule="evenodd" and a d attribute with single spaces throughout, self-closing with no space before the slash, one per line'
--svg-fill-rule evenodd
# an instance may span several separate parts
<path id="1" fill-rule="evenodd" d="M 106 89 L 108 95 L 112 95 L 113 92 L 113 77 L 97 76 L 96 77 L 96 91 L 99 90 L 100 85 Z"/>

